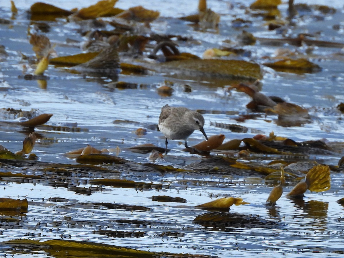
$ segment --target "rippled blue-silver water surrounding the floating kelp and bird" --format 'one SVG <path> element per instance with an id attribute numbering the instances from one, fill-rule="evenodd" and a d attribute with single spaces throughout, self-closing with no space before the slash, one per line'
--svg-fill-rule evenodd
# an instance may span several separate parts
<path id="1" fill-rule="evenodd" d="M 18 2 L 18 3 L 17 3 Z M 317 1 L 322 3 L 321 1 Z M 158 122 L 160 108 L 185 106 L 191 109 L 208 110 L 204 114 L 205 131 L 208 136 L 223 133 L 226 140 L 252 137 L 257 133 L 268 135 L 274 131 L 276 135 L 289 137 L 295 141 L 326 139 L 328 142 L 343 142 L 343 115 L 336 106 L 344 102 L 344 65 L 342 50 L 336 48 L 315 47 L 311 61 L 322 67 L 318 73 L 283 73 L 265 67 L 262 79 L 262 92 L 267 95 L 280 96 L 291 103 L 302 105 L 312 116 L 311 123 L 301 127 L 282 127 L 276 123 L 276 115 L 258 114 L 255 119 L 243 121 L 239 118 L 250 113 L 246 104 L 250 98 L 244 93 L 226 90 L 226 81 L 181 76 L 180 74 L 165 75 L 125 75 L 119 74 L 118 80 L 143 85 L 136 89 L 109 89 L 105 84 L 108 78 L 96 78 L 80 74 L 72 74 L 63 68 L 50 66 L 45 73 L 49 76 L 47 87 L 41 88 L 36 80 L 24 80 L 19 52 L 33 56 L 32 46 L 28 42 L 28 27 L 33 30 L 31 21 L 27 19 L 25 10 L 33 1 L 15 1 L 20 9 L 17 18 L 11 26 L 0 24 L 0 44 L 6 47 L 9 56 L 0 63 L 0 82 L 9 88 L 1 89 L 1 107 L 22 110 L 37 109 L 38 113 L 52 113 L 54 116 L 47 122 L 51 126 L 72 127 L 77 124 L 80 132 L 61 132 L 47 130 L 44 127 L 35 129 L 37 142 L 33 152 L 43 162 L 71 163 L 73 159 L 61 155 L 64 152 L 85 147 L 91 144 L 98 149 L 120 148 L 119 156 L 135 162 L 149 162 L 148 154 L 132 152 L 126 148 L 143 143 L 153 143 L 164 147 L 164 137 L 157 130 L 148 129 L 145 136 L 137 136 L 135 130 L 139 127 L 148 128 Z M 234 17 L 247 19 L 245 10 L 240 8 L 237 1 L 208 1 L 208 7 L 221 13 L 219 33 L 200 32 L 194 30 L 186 22 L 176 20 L 176 17 L 195 13 L 198 1 L 188 1 L 187 8 L 183 1 L 140 1 L 131 2 L 130 6 L 142 6 L 161 11 L 161 18 L 154 21 L 152 31 L 161 34 L 178 34 L 192 36 L 199 40 L 200 45 L 180 43 L 180 50 L 202 56 L 205 49 L 219 47 L 226 39 L 235 40 L 241 29 L 231 27 Z M 75 6 L 88 6 L 88 1 L 61 1 L 59 7 L 71 9 Z M 233 9 L 230 9 L 233 4 Z M 242 2 L 245 6 L 248 3 Z M 343 35 L 343 3 L 331 3 L 337 9 L 333 15 L 323 15 L 322 20 L 316 21 L 311 15 L 305 15 L 298 20 L 298 25 L 290 32 L 292 36 L 298 33 L 319 34 L 319 40 L 344 42 Z M 116 6 L 129 7 L 126 1 L 119 1 Z M 280 7 L 285 15 L 286 4 Z M 1 17 L 11 16 L 9 3 L 1 1 Z M 321 15 L 320 15 L 321 16 Z M 277 37 L 276 32 L 267 31 L 265 21 L 252 18 L 252 25 L 246 28 L 257 37 Z M 334 24 L 340 24 L 340 30 L 333 30 Z M 66 21 L 50 23 L 51 29 L 46 35 L 57 43 L 59 55 L 76 54 L 77 47 L 64 45 L 67 38 L 80 42 L 85 39 L 76 32 L 78 26 Z M 279 46 L 281 47 L 281 46 Z M 284 45 L 294 50 L 296 47 Z M 278 46 L 266 46 L 259 42 L 254 46 L 245 46 L 251 51 L 251 57 L 244 60 L 264 63 L 261 56 L 272 55 Z M 300 47 L 304 51 L 305 47 Z M 32 72 L 32 71 L 28 71 Z M 157 87 L 164 80 L 174 82 L 174 92 L 171 97 L 162 97 L 157 93 Z M 184 85 L 192 87 L 191 93 L 184 92 Z M 214 112 L 209 112 L 214 111 Z M 216 112 L 215 112 L 216 111 Z M 114 123 L 114 120 L 131 120 L 136 123 Z M 210 122 L 238 124 L 247 127 L 247 133 L 237 133 L 216 128 Z M 150 128 L 150 127 L 149 127 Z M 0 125 L 0 144 L 11 151 L 22 148 L 22 141 L 28 135 L 22 127 L 4 123 Z M 188 143 L 194 145 L 203 139 L 201 132 L 194 132 Z M 200 159 L 198 155 L 182 152 L 183 143 L 169 141 L 172 151 L 164 160 L 158 163 L 181 166 Z M 333 155 L 314 155 L 311 159 L 328 165 L 337 165 L 343 153 Z M 265 162 L 265 157 L 260 158 Z M 273 158 L 271 158 L 273 159 Z M 23 171 L 18 168 L 4 171 Z M 29 173 L 37 171 L 28 170 Z M 164 186 L 160 191 L 154 189 L 138 190 L 103 186 L 103 191 L 92 194 L 76 194 L 68 191 L 67 187 L 50 185 L 44 180 L 4 180 L 0 182 L 2 197 L 28 198 L 28 212 L 22 215 L 18 225 L 1 224 L 0 240 L 15 238 L 30 238 L 39 240 L 67 239 L 87 240 L 137 248 L 150 251 L 170 251 L 173 253 L 191 253 L 212 255 L 216 257 L 265 257 L 289 255 L 289 257 L 338 257 L 333 251 L 343 249 L 343 207 L 336 201 L 343 197 L 343 175 L 331 175 L 331 190 L 324 193 L 305 194 L 302 201 L 291 201 L 284 197 L 278 201 L 278 207 L 267 208 L 264 203 L 272 189 L 264 181 L 259 183 L 244 183 L 244 176 L 233 175 L 195 175 L 183 173 L 145 173 L 127 172 L 102 174 L 89 173 L 75 176 L 75 185 L 90 187 L 89 178 L 119 176 L 136 181 L 158 182 Z M 261 175 L 253 175 L 263 178 Z M 92 185 L 93 186 L 93 185 Z M 287 193 L 292 185 L 285 187 Z M 156 202 L 149 197 L 153 195 L 169 195 L 182 197 L 187 200 L 185 205 L 190 208 L 176 207 L 178 203 Z M 272 228 L 217 228 L 205 227 L 192 223 L 193 219 L 204 211 L 192 208 L 197 204 L 211 201 L 217 197 L 241 196 L 249 205 L 232 207 L 232 212 L 259 215 L 260 217 L 280 222 Z M 132 205 L 142 205 L 151 208 L 150 212 L 138 212 L 118 209 L 96 209 L 94 207 L 59 207 L 64 202 L 49 201 L 50 197 L 67 198 L 68 203 L 80 202 L 109 202 Z M 116 220 L 132 219 L 149 222 L 150 225 L 134 225 L 118 223 Z M 58 222 L 58 223 L 57 223 Z M 106 237 L 93 234 L 93 230 L 117 229 L 144 232 L 143 237 Z M 159 236 L 163 232 L 179 232 L 183 236 Z M 9 254 L 2 250 L 0 254 Z M 13 254 L 13 253 L 12 253 Z M 30 251 L 28 254 L 15 254 L 14 257 L 51 257 L 51 254 L 40 251 Z"/>

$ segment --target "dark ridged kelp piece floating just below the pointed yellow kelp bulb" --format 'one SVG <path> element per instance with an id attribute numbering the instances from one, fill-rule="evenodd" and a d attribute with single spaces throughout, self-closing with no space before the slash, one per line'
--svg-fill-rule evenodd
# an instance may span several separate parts
<path id="1" fill-rule="evenodd" d="M 259 216 L 230 212 L 208 212 L 198 215 L 193 223 L 216 227 L 268 227 L 277 226 L 277 222 Z"/>

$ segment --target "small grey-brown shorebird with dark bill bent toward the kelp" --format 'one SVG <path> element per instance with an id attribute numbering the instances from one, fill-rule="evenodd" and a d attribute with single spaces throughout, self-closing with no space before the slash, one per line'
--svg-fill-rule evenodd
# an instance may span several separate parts
<path id="1" fill-rule="evenodd" d="M 170 107 L 168 104 L 161 108 L 159 117 L 159 130 L 166 137 L 165 145 L 167 153 L 168 140 L 184 140 L 185 148 L 187 146 L 187 138 L 193 133 L 194 130 L 200 130 L 205 139 L 208 140 L 207 135 L 203 129 L 204 118 L 203 116 L 193 110 L 185 107 Z"/>

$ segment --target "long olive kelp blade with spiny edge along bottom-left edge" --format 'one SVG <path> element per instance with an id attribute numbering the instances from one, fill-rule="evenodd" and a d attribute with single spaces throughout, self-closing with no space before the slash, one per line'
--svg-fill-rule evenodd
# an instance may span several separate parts
<path id="1" fill-rule="evenodd" d="M 87 241 L 53 239 L 47 241 L 31 239 L 11 239 L 0 243 L 2 246 L 17 248 L 18 250 L 28 248 L 41 249 L 54 254 L 55 257 L 65 257 L 66 253 L 70 257 L 142 257 L 153 258 L 157 254 L 149 251 L 140 251 L 132 248 L 106 245 Z M 62 253 L 61 256 L 59 253 Z M 57 255 L 57 256 L 56 256 Z"/>

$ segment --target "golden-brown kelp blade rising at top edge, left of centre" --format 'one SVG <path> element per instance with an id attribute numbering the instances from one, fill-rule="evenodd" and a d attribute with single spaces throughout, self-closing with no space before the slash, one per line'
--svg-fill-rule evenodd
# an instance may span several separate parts
<path id="1" fill-rule="evenodd" d="M 108 16 L 112 13 L 117 0 L 103 0 L 96 4 L 80 9 L 75 16 L 81 19 L 94 19 L 97 17 Z"/>

